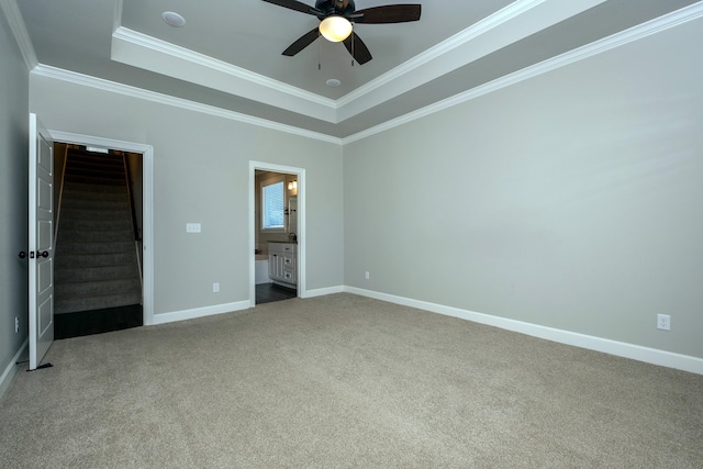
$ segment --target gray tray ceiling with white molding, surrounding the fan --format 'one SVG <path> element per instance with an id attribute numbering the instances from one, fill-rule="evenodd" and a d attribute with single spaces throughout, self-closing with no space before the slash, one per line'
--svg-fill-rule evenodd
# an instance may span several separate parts
<path id="1" fill-rule="evenodd" d="M 38 72 L 108 80 L 335 139 L 701 3 L 417 1 L 419 22 L 355 25 L 373 56 L 359 65 L 343 44 L 324 38 L 293 57 L 281 55 L 319 20 L 261 0 L 3 1 L 16 2 Z M 356 0 L 356 8 L 392 3 Z M 181 14 L 186 25 L 168 25 L 165 11 Z M 341 86 L 326 86 L 331 78 Z"/>

